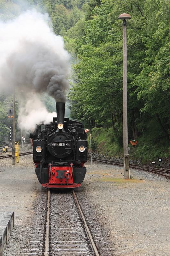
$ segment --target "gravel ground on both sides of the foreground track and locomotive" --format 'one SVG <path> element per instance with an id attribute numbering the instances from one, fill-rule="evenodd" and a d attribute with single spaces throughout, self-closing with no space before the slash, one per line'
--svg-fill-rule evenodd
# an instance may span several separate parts
<path id="1" fill-rule="evenodd" d="M 101 163 L 86 164 L 82 187 L 75 189 L 86 221 L 102 256 L 170 255 L 170 180 L 138 170 L 123 179 L 123 168 Z M 18 256 L 27 225 L 36 216 L 44 222 L 46 188 L 39 184 L 32 156 L 0 160 L 1 210 L 15 211 L 15 228 L 4 256 Z M 41 202 L 40 202 L 41 201 Z M 35 225 L 35 223 L 34 223 Z M 20 232 L 20 233 L 19 233 Z"/>

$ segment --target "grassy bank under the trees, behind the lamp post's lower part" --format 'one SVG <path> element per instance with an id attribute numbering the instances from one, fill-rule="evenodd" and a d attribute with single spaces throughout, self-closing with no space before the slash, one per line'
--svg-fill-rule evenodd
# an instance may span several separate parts
<path id="1" fill-rule="evenodd" d="M 123 156 L 123 145 L 121 145 L 118 136 L 113 133 L 112 129 L 94 128 L 92 144 L 93 149 L 107 157 Z M 165 159 L 170 156 L 168 142 L 165 139 L 156 140 L 156 138 L 150 137 L 150 134 L 145 138 L 139 137 L 136 147 L 132 147 L 131 144 L 128 146 L 130 146 L 130 159 L 140 160 L 141 164 L 157 162 L 158 157 Z"/>

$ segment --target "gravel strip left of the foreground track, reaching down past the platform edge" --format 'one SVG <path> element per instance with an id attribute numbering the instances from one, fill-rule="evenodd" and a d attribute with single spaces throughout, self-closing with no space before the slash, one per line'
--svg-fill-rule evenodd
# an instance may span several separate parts
<path id="1" fill-rule="evenodd" d="M 15 166 L 11 162 L 0 160 L 0 209 L 15 211 L 15 227 L 3 256 L 27 256 L 30 240 L 38 240 L 34 234 L 45 227 L 47 192 L 37 182 L 32 155 L 21 156 Z"/>

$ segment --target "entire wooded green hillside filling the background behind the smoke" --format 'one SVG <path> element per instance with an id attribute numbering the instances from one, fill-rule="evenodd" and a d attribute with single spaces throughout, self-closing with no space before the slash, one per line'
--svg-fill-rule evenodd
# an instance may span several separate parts
<path id="1" fill-rule="evenodd" d="M 54 32 L 63 36 L 72 56 L 68 95 L 71 117 L 90 128 L 93 149 L 98 148 L 108 156 L 122 154 L 123 53 L 122 21 L 118 16 L 131 15 L 127 22 L 128 139 L 138 140 L 131 154 L 145 162 L 168 157 L 170 2 L 29 0 L 18 3 L 0 0 L 0 19 L 11 19 L 27 6 L 49 14 Z M 6 96 L 0 95 L 0 140 L 8 136 L 6 101 Z M 48 110 L 53 111 L 50 107 Z"/>

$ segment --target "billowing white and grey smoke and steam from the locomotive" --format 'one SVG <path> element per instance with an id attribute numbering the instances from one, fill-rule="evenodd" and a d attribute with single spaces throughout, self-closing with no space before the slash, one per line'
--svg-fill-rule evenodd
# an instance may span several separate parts
<path id="1" fill-rule="evenodd" d="M 12 93 L 15 87 L 25 95 L 48 92 L 57 102 L 66 101 L 69 54 L 62 37 L 53 33 L 49 23 L 48 15 L 36 10 L 5 23 L 0 21 L 0 91 Z M 36 96 L 20 109 L 18 123 L 22 128 L 26 123 L 28 129 L 28 124 L 35 127 L 31 120 L 36 124 L 52 121 Z"/>

